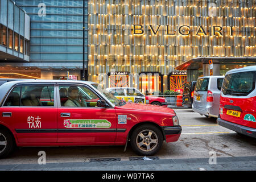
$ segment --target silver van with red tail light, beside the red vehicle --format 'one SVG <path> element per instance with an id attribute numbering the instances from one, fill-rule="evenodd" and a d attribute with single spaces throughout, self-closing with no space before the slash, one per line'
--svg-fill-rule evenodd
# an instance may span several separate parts
<path id="1" fill-rule="evenodd" d="M 206 117 L 218 117 L 223 79 L 224 76 L 204 76 L 197 79 L 193 111 Z"/>

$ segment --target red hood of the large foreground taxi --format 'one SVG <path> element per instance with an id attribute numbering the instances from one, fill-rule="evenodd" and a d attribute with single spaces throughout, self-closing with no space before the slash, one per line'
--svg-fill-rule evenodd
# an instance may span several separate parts
<path id="1" fill-rule="evenodd" d="M 155 113 L 171 113 L 176 115 L 175 111 L 171 108 L 164 106 L 157 106 L 151 104 L 137 104 L 137 103 L 129 103 L 126 102 L 125 105 L 117 106 L 119 109 L 131 109 L 131 110 L 141 110 L 141 111 L 149 111 Z"/>

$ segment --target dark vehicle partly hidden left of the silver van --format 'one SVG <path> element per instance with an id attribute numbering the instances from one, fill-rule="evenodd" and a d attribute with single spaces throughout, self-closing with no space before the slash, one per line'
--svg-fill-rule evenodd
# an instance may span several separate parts
<path id="1" fill-rule="evenodd" d="M 183 106 L 192 107 L 195 86 L 196 86 L 196 81 L 187 82 L 184 85 L 183 96 L 182 96 L 182 105 Z"/>

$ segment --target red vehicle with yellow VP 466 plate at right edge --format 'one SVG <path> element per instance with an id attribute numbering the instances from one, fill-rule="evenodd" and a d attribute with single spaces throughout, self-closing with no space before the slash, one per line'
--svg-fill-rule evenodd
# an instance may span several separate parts
<path id="1" fill-rule="evenodd" d="M 226 72 L 217 123 L 256 138 L 256 66 Z"/>

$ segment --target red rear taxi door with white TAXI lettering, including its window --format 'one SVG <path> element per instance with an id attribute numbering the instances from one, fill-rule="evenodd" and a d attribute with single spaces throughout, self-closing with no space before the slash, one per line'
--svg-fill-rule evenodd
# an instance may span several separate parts
<path id="1" fill-rule="evenodd" d="M 0 121 L 14 129 L 19 143 L 57 142 L 54 89 L 54 84 L 39 83 L 19 84 L 11 90 L 1 107 Z"/>

